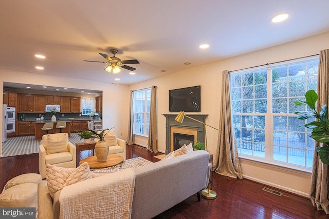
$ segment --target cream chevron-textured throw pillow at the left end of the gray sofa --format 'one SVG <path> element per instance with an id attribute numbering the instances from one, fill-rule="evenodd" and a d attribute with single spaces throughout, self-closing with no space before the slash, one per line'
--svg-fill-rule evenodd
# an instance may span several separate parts
<path id="1" fill-rule="evenodd" d="M 46 165 L 47 186 L 52 198 L 64 186 L 88 180 L 89 178 L 92 178 L 92 172 L 90 172 L 87 162 L 77 168 L 57 167 L 51 164 Z"/>

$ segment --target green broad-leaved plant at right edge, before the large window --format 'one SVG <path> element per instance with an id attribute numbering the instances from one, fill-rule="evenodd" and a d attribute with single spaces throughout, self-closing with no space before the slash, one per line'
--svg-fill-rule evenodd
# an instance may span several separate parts
<path id="1" fill-rule="evenodd" d="M 312 129 L 312 137 L 315 141 L 323 143 L 323 146 L 317 147 L 317 152 L 322 163 L 329 165 L 329 120 L 327 105 L 321 107 L 320 112 L 316 110 L 316 102 L 318 94 L 314 90 L 309 90 L 305 94 L 306 101 L 293 101 L 296 105 L 307 105 L 309 111 L 294 112 L 299 115 L 300 120 L 307 120 L 307 118 L 316 118 L 316 121 L 305 124 L 306 128 Z"/>

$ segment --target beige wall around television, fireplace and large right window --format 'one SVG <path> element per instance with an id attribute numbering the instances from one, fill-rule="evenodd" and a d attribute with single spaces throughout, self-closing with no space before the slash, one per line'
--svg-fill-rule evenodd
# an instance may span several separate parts
<path id="1" fill-rule="evenodd" d="M 166 149 L 166 120 L 165 116 L 161 114 L 170 113 L 168 111 L 168 90 L 201 85 L 200 114 L 209 114 L 206 123 L 218 127 L 222 87 L 221 72 L 223 70 L 233 71 L 318 54 L 320 50 L 329 48 L 328 38 L 329 32 L 207 65 L 197 66 L 131 85 L 130 90 L 149 88 L 152 85 L 158 87 L 158 150 L 163 152 Z M 192 63 L 192 65 L 197 64 Z M 217 136 L 218 132 L 216 130 L 207 128 L 208 149 L 210 149 L 211 153 L 216 151 Z M 241 165 L 244 177 L 246 178 L 308 196 L 310 173 L 283 167 L 279 168 L 259 162 L 250 162 L 245 159 L 241 159 Z"/>

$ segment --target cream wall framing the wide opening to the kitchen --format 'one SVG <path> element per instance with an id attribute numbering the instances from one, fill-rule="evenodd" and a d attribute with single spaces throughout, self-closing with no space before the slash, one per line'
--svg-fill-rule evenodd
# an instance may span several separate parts
<path id="1" fill-rule="evenodd" d="M 129 86 L 127 85 L 113 85 L 109 83 L 86 81 L 79 78 L 72 79 L 5 69 L 0 69 L 0 82 L 1 91 L 3 91 L 4 82 L 101 90 L 103 91 L 103 127 L 112 128 L 115 126 L 114 130 L 117 136 L 123 140 L 127 139 L 130 98 Z M 3 103 L 3 95 L 1 95 L 0 101 Z M 2 114 L 2 107 L 0 110 Z M 3 123 L 2 117 L 0 118 L 0 123 Z M 2 129 L 3 127 L 1 126 L 1 133 L 4 131 Z M 0 147 L 0 155 L 2 155 L 2 145 Z"/>

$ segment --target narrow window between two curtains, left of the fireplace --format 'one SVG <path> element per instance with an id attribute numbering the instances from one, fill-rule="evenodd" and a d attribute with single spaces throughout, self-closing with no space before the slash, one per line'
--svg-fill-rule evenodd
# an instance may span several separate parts
<path id="1" fill-rule="evenodd" d="M 134 91 L 134 134 L 149 134 L 150 103 L 151 88 Z"/>

